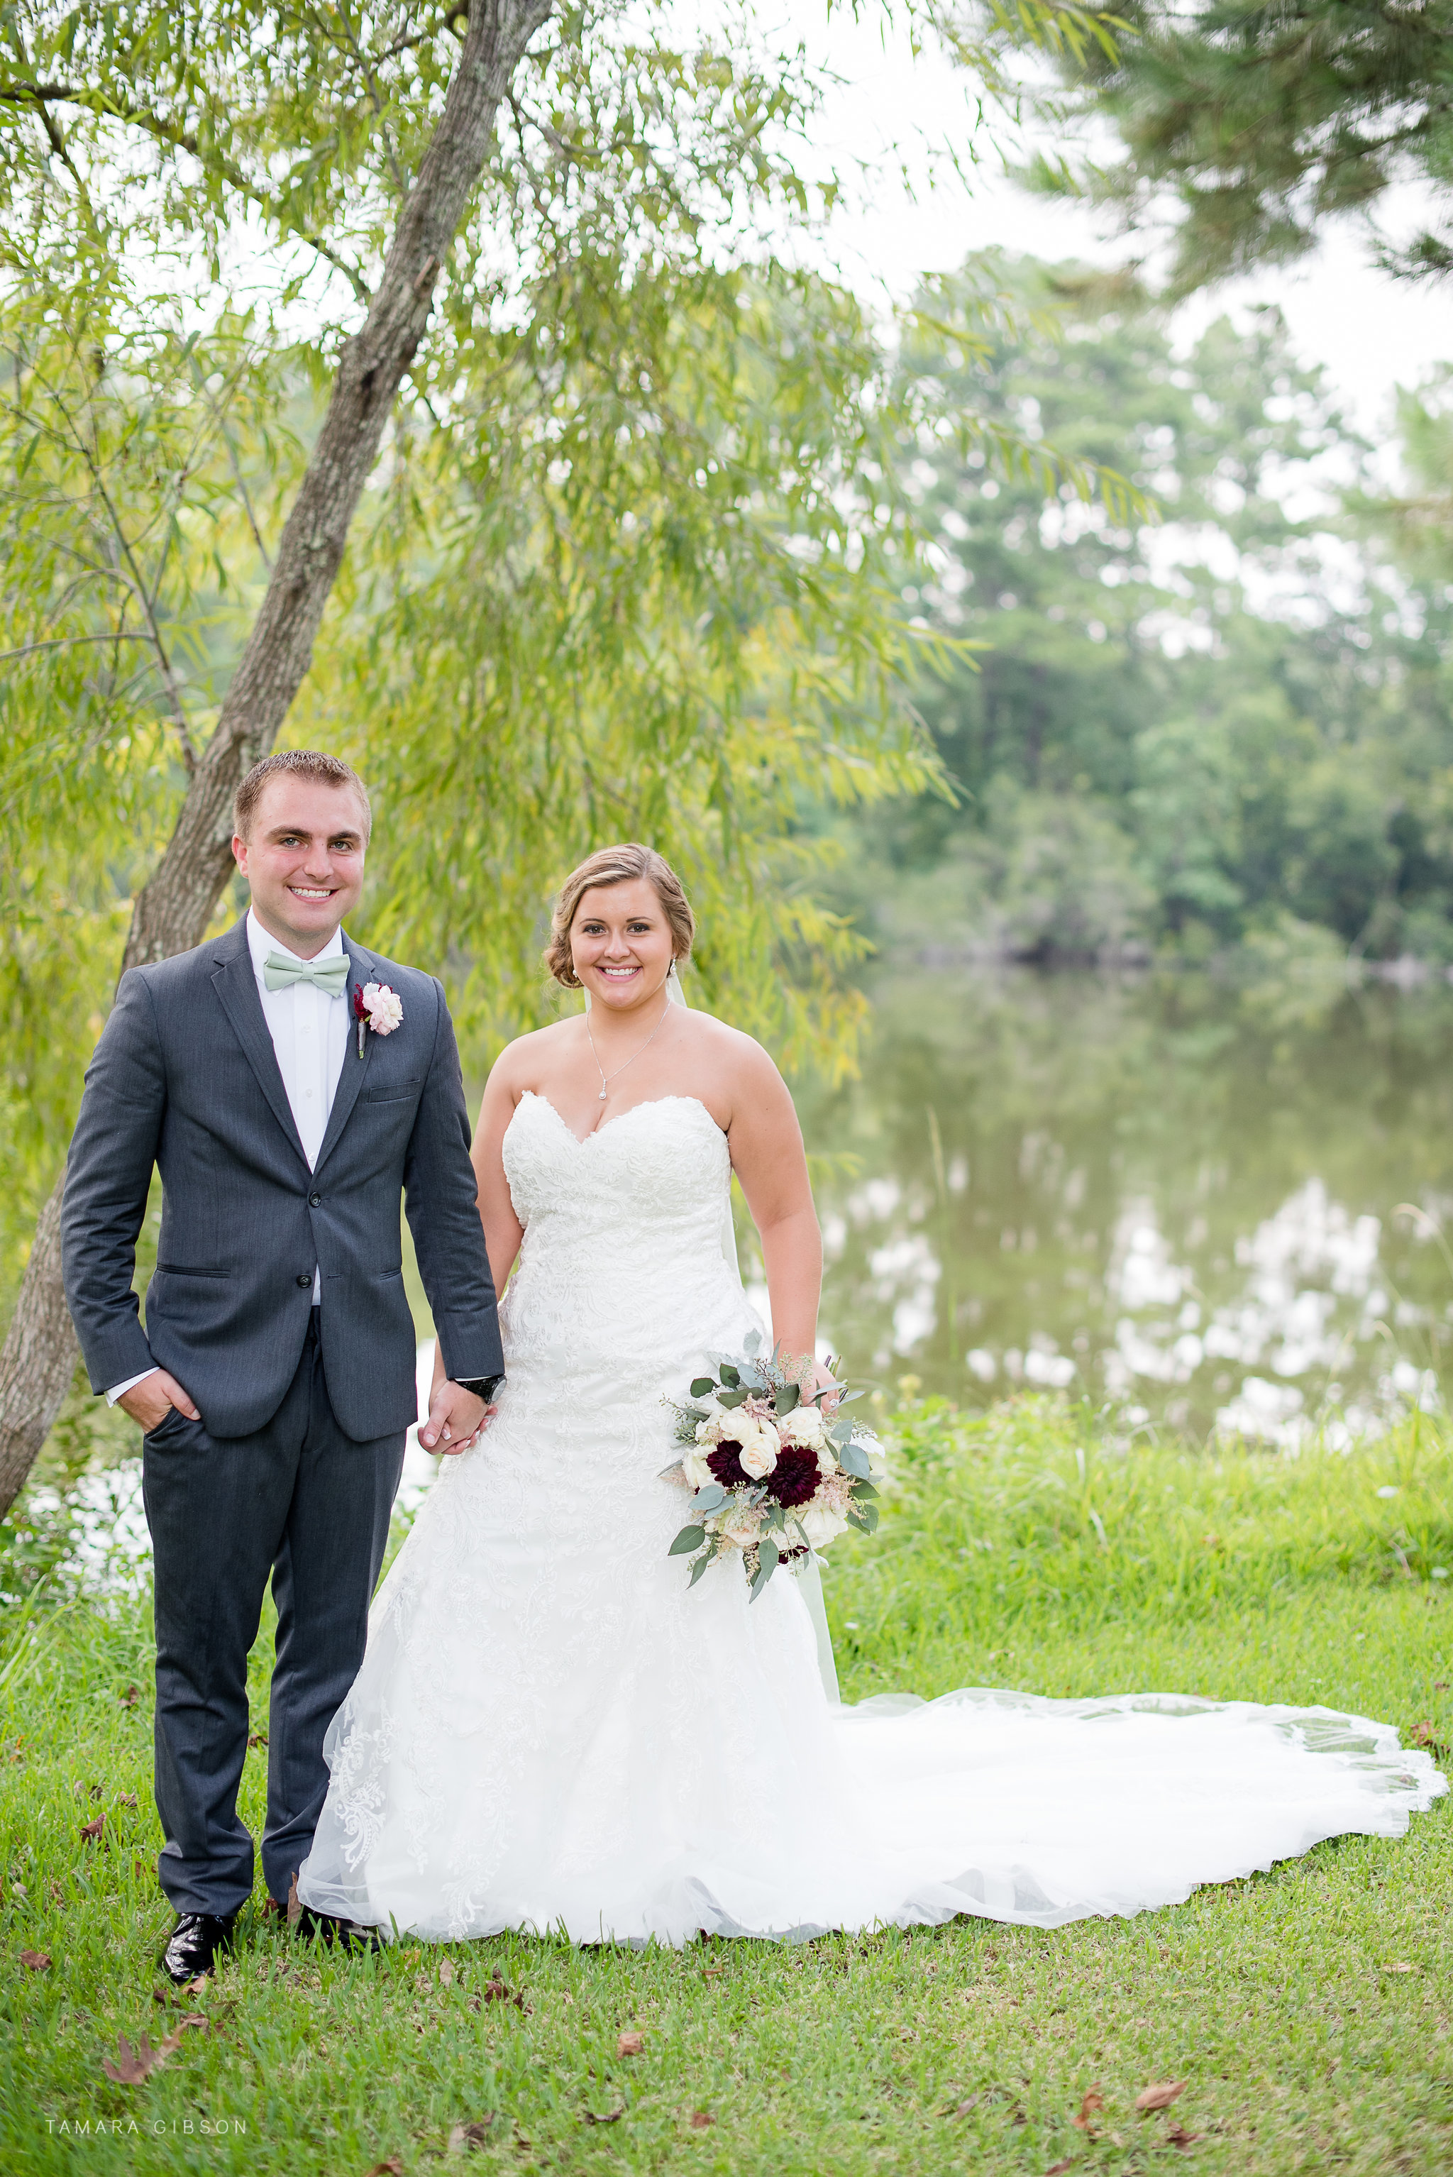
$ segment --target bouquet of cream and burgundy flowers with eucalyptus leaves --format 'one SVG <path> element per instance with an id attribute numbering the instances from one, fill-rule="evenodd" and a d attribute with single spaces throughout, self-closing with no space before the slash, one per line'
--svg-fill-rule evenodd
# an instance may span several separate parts
<path id="1" fill-rule="evenodd" d="M 735 1552 L 753 1602 L 779 1565 L 805 1563 L 850 1526 L 870 1535 L 883 1474 L 877 1437 L 842 1413 L 861 1391 L 833 1382 L 805 1398 L 790 1358 L 759 1350 L 753 1332 L 746 1352 L 718 1356 L 716 1374 L 692 1382 L 690 1404 L 674 1406 L 685 1450 L 661 1476 L 692 1489 L 694 1520 L 668 1552 L 694 1559 L 687 1587 Z M 824 1398 L 837 1398 L 835 1413 Z"/>

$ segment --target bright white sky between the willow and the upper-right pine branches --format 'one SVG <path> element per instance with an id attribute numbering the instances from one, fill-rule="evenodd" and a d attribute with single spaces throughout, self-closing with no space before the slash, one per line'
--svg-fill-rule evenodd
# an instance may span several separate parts
<path id="1" fill-rule="evenodd" d="M 855 285 L 911 290 L 920 272 L 948 270 L 974 250 L 998 244 L 1040 257 L 1079 255 L 1112 263 L 1131 244 L 1112 237 L 1094 216 L 1075 205 L 1027 196 L 1003 179 L 983 144 L 983 163 L 970 187 L 937 161 L 929 185 L 931 148 L 972 144 L 968 78 L 937 54 L 909 52 L 907 39 L 883 39 L 881 24 L 824 17 L 822 0 L 783 0 L 783 30 L 803 37 L 846 78 L 829 94 L 814 137 L 827 161 L 853 165 L 874 159 L 877 179 L 855 189 L 829 231 L 829 246 Z M 896 174 L 892 146 L 907 155 L 916 185 Z M 1409 224 L 1416 202 L 1405 196 L 1390 224 Z M 1431 366 L 1453 359 L 1453 285 L 1412 287 L 1370 266 L 1366 235 L 1351 222 L 1333 226 L 1318 255 L 1294 270 L 1277 270 L 1188 303 L 1177 329 L 1192 337 L 1212 316 L 1238 313 L 1246 303 L 1281 303 L 1305 361 L 1329 368 L 1351 416 L 1370 435 L 1390 422 L 1394 385 L 1418 383 Z"/>

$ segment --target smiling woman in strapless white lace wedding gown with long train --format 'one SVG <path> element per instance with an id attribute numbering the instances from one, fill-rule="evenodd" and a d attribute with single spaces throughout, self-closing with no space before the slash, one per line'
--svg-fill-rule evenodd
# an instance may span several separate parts
<path id="1" fill-rule="evenodd" d="M 681 999 L 692 934 L 646 847 L 559 893 L 548 962 L 587 1010 L 502 1051 L 474 1143 L 507 1385 L 374 1602 L 300 1903 L 442 1942 L 1055 1927 L 1401 1835 L 1444 1781 L 1390 1724 L 983 1687 L 840 1707 L 805 1581 L 748 1604 L 720 1565 L 687 1594 L 663 1400 L 755 1328 L 733 1171 L 785 1352 L 814 1352 L 822 1269 L 777 1067 Z"/>

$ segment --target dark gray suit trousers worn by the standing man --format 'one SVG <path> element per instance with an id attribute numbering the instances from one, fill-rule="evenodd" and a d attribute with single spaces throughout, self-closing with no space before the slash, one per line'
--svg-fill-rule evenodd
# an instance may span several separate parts
<path id="1" fill-rule="evenodd" d="M 263 1879 L 285 1903 L 328 1789 L 324 1733 L 363 1661 L 405 1435 L 359 1443 L 341 1432 L 313 1308 L 294 1380 L 263 1428 L 213 1439 L 172 1411 L 141 1450 L 157 1561 L 157 1811 L 167 1840 L 157 1874 L 176 1911 L 231 1914 L 252 1894 L 237 1785 L 248 1650 L 272 1574 Z"/>

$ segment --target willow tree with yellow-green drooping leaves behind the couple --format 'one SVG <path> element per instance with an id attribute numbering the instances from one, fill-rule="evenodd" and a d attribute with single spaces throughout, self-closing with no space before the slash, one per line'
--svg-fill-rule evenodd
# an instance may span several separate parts
<path id="1" fill-rule="evenodd" d="M 687 48 L 550 0 L 7 13 L 4 1097 L 37 1200 L 115 969 L 202 940 L 300 690 L 289 731 L 381 788 L 374 932 L 481 1021 L 539 1001 L 559 862 L 650 829 L 720 910 L 713 991 L 840 1047 L 853 940 L 794 797 L 933 775 L 887 459 L 924 422 L 763 239 L 809 205 L 811 100 L 746 15 Z M 59 1197 L 0 1509 L 74 1372 Z"/>

